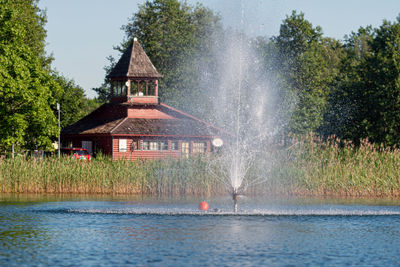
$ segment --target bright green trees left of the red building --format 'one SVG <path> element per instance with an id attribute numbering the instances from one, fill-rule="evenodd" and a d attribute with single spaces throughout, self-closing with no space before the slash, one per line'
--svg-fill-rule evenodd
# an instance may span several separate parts
<path id="1" fill-rule="evenodd" d="M 37 0 L 0 0 L 0 151 L 51 149 L 61 126 L 99 105 L 51 68 L 45 51 L 46 14 Z"/>

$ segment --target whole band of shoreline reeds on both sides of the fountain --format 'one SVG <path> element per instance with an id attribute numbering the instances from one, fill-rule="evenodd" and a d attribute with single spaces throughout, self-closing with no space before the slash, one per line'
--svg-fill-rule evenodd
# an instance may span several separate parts
<path id="1" fill-rule="evenodd" d="M 218 155 L 133 162 L 108 157 L 90 162 L 69 157 L 1 159 L 0 192 L 226 195 L 229 182 L 208 171 L 213 157 Z M 400 197 L 400 150 L 368 140 L 356 147 L 310 134 L 285 146 L 266 147 L 246 182 L 249 195 Z"/>

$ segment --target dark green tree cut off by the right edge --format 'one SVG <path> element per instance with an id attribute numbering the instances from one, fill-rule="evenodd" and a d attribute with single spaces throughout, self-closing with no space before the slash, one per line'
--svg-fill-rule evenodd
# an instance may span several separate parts
<path id="1" fill-rule="evenodd" d="M 359 69 L 362 126 L 373 142 L 400 144 L 400 17 L 375 29 L 370 51 Z"/>

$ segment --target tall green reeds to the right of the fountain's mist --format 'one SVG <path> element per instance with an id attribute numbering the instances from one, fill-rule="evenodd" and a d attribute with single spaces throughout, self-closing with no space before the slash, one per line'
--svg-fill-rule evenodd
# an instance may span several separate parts
<path id="1" fill-rule="evenodd" d="M 358 146 L 309 134 L 287 148 L 285 169 L 296 194 L 399 197 L 400 150 L 362 140 Z"/>

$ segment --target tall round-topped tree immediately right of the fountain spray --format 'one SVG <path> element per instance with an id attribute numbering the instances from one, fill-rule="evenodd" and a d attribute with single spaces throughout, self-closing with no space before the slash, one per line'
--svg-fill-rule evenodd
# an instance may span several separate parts
<path id="1" fill-rule="evenodd" d="M 288 130 L 294 133 L 316 131 L 322 124 L 327 97 L 335 77 L 337 43 L 322 37 L 304 14 L 293 11 L 272 42 L 278 51 L 275 60 L 282 90 L 295 99 Z"/>

